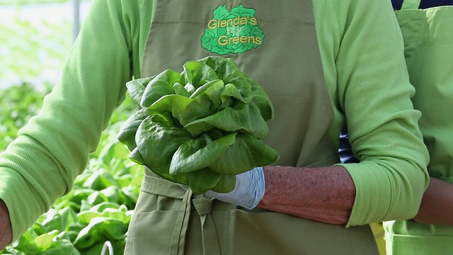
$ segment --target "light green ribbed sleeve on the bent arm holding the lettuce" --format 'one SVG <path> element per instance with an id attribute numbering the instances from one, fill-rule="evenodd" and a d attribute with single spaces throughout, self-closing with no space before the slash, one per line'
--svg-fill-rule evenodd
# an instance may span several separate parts
<path id="1" fill-rule="evenodd" d="M 336 31 L 326 24 L 328 5 Z M 337 119 L 344 120 L 333 124 L 331 136 L 338 141 L 347 122 L 352 150 L 360 159 L 341 164 L 356 187 L 347 226 L 411 218 L 428 186 L 429 159 L 391 3 L 314 1 L 314 10 L 326 84 Z"/>

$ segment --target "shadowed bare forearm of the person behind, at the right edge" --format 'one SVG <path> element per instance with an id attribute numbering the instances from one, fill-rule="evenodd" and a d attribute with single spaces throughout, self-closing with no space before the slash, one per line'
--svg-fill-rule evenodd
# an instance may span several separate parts
<path id="1" fill-rule="evenodd" d="M 453 185 L 431 177 L 413 220 L 425 224 L 453 225 Z"/>

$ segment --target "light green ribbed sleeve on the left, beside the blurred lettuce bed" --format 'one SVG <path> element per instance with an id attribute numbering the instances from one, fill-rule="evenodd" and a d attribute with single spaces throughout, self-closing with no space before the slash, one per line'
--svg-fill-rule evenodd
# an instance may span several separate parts
<path id="1" fill-rule="evenodd" d="M 128 12 L 120 1 L 93 1 L 42 110 L 0 154 L 0 198 L 8 207 L 13 240 L 71 190 L 124 100 L 132 77 Z"/>

